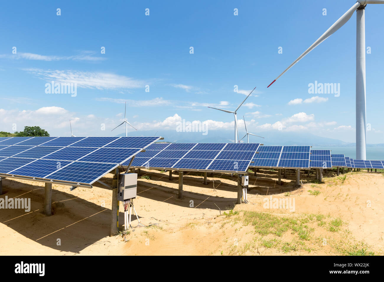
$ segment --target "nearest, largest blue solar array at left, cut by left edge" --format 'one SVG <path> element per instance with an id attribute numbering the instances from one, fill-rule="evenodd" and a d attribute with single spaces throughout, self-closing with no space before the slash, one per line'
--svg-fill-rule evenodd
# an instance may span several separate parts
<path id="1" fill-rule="evenodd" d="M 0 176 L 89 184 L 161 137 L 0 137 Z"/>

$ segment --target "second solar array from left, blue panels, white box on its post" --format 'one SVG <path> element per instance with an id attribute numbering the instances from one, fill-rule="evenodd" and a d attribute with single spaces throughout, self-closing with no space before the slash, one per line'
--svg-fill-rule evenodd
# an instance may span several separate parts
<path id="1" fill-rule="evenodd" d="M 139 153 L 131 167 L 169 170 L 248 172 L 260 143 L 157 143 Z M 129 165 L 127 160 L 123 165 Z"/>

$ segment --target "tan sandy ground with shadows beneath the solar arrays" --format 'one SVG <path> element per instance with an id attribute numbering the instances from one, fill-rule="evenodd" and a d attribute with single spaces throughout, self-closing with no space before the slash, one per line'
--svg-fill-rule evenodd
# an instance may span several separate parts
<path id="1" fill-rule="evenodd" d="M 135 207 L 142 223 L 149 227 L 133 228 L 125 236 L 114 237 L 109 237 L 112 192 L 108 188 L 96 184 L 93 189 L 70 191 L 69 186 L 53 185 L 53 216 L 45 216 L 43 183 L 3 180 L 1 198 L 30 198 L 31 210 L 27 213 L 21 209 L 0 209 L 0 254 L 337 255 L 341 254 L 338 246 L 344 242 L 366 244 L 375 254 L 383 254 L 384 177 L 381 173 L 346 173 L 344 181 L 325 174 L 329 177 L 326 183 L 306 183 L 297 188 L 293 186 L 293 171 L 283 179 L 284 185 L 278 186 L 276 172 L 260 170 L 257 176 L 250 175 L 249 203 L 236 206 L 234 176 L 215 174 L 215 178 L 208 177 L 208 185 L 204 185 L 201 175 L 185 172 L 184 199 L 180 200 L 177 198 L 177 174 L 171 181 L 167 172 L 141 170 L 141 175 L 144 174 L 151 179 L 138 180 Z M 313 175 L 307 178 L 302 173 L 304 183 L 311 179 Z M 112 175 L 106 175 L 101 181 L 111 185 Z M 308 190 L 321 193 L 310 195 Z M 285 196 L 287 192 L 289 196 Z M 295 211 L 266 209 L 263 200 L 271 195 L 294 199 Z M 239 211 L 234 220 L 223 215 L 233 207 Z M 323 214 L 329 221 L 341 218 L 343 225 L 340 232 L 334 233 L 308 223 L 313 227 L 313 239 L 305 244 L 311 251 L 283 252 L 281 246 L 262 246 L 268 236 L 258 236 L 252 224 L 242 222 L 244 211 L 293 217 Z M 121 204 L 119 218 L 122 226 Z M 136 225 L 137 220 L 133 224 Z M 280 239 L 290 241 L 293 236 L 286 232 Z M 321 238 L 338 243 L 320 244 Z"/>

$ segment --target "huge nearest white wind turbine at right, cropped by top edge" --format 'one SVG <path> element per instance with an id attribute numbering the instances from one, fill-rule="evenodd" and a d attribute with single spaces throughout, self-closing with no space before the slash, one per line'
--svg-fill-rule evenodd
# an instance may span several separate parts
<path id="1" fill-rule="evenodd" d="M 321 35 L 303 54 L 285 69 L 274 81 L 316 46 L 341 28 L 356 11 L 356 159 L 366 160 L 366 84 L 365 84 L 365 7 L 367 4 L 384 4 L 384 0 L 359 0 Z M 268 85 L 268 87 L 271 86 Z M 267 87 L 267 88 L 268 88 Z"/>

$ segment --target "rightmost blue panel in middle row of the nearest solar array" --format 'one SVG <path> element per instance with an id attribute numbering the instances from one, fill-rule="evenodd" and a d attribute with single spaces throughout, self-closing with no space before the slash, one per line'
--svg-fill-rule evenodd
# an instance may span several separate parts
<path id="1" fill-rule="evenodd" d="M 137 149 L 127 148 L 100 148 L 85 157 L 79 158 L 79 162 L 94 163 L 121 163 L 127 158 L 131 158 Z"/>

